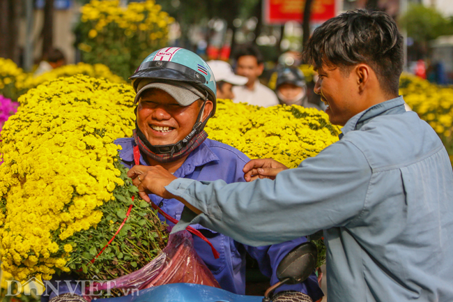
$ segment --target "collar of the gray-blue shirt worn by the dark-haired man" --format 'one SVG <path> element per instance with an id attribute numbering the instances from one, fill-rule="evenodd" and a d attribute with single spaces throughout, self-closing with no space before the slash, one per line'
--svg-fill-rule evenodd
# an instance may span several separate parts
<path id="1" fill-rule="evenodd" d="M 340 139 L 343 135 L 346 135 L 349 131 L 358 130 L 362 128 L 366 123 L 374 119 L 374 117 L 379 115 L 395 114 L 405 112 L 404 109 L 404 100 L 402 96 L 397 98 L 392 98 L 391 100 L 386 100 L 383 103 L 376 104 L 369 107 L 367 110 L 364 110 L 355 116 L 351 117 L 349 121 L 341 128 L 341 134 L 339 135 Z"/>

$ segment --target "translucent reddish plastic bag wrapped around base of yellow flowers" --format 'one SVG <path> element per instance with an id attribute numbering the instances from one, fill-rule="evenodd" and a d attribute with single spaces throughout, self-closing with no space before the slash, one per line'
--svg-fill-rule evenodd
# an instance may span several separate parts
<path id="1" fill-rule="evenodd" d="M 213 273 L 194 249 L 192 235 L 181 231 L 169 236 L 167 246 L 158 257 L 138 271 L 114 280 L 93 282 L 85 288 L 84 298 L 91 301 L 94 291 L 122 289 L 123 294 L 170 283 L 194 283 L 220 288 Z"/>

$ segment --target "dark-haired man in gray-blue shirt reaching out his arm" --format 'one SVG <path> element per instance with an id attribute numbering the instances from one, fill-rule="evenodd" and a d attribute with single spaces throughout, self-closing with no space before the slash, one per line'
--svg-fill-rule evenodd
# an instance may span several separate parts
<path id="1" fill-rule="evenodd" d="M 252 160 L 249 182 L 231 184 L 176 179 L 159 167 L 129 175 L 146 174 L 141 196 L 185 203 L 174 230 L 200 223 L 260 246 L 324 229 L 330 302 L 451 302 L 452 165 L 398 96 L 402 47 L 380 12 L 344 13 L 314 31 L 304 53 L 319 73 L 314 90 L 344 127 L 339 142 L 295 169 Z"/>

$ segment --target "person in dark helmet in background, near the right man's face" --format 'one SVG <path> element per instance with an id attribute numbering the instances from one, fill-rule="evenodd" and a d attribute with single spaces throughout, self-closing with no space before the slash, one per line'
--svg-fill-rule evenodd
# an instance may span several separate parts
<path id="1" fill-rule="evenodd" d="M 285 67 L 277 72 L 275 93 L 282 105 L 300 105 L 321 110 L 315 104 L 309 103 L 305 76 L 299 68 Z"/>

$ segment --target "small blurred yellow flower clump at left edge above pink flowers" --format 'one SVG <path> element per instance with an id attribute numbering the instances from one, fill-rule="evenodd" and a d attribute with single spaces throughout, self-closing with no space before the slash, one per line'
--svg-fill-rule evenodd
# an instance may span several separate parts
<path id="1" fill-rule="evenodd" d="M 17 100 L 26 91 L 24 81 L 29 74 L 10 59 L 0 58 L 0 94 L 5 98 Z"/>

